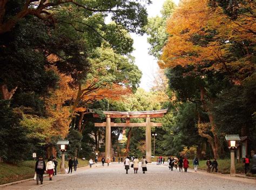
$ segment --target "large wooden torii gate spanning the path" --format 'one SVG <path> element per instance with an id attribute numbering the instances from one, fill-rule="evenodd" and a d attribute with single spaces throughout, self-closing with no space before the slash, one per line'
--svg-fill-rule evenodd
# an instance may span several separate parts
<path id="1" fill-rule="evenodd" d="M 141 111 L 141 112 L 116 112 L 104 111 L 106 122 L 95 123 L 95 127 L 106 127 L 105 133 L 105 157 L 111 157 L 111 127 L 146 127 L 146 159 L 151 162 L 151 127 L 161 127 L 161 123 L 152 123 L 150 118 L 161 118 L 167 112 L 165 110 L 157 111 Z M 98 118 L 99 115 L 93 113 L 93 117 Z M 111 118 L 126 118 L 126 123 L 113 123 Z M 144 123 L 130 123 L 130 118 L 146 118 Z"/>

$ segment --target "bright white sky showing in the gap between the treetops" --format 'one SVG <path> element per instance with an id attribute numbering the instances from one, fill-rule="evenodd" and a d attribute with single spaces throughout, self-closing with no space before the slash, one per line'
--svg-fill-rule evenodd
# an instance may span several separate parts
<path id="1" fill-rule="evenodd" d="M 163 7 L 165 0 L 153 0 L 152 4 L 147 6 L 147 13 L 149 17 L 160 16 L 160 10 Z M 178 4 L 179 0 L 173 0 Z M 146 91 L 150 91 L 151 84 L 153 82 L 153 73 L 158 70 L 157 59 L 149 55 L 150 44 L 147 43 L 147 35 L 139 36 L 135 33 L 131 33 L 134 40 L 132 55 L 135 57 L 135 64 L 138 65 L 142 71 L 143 76 L 140 80 L 140 87 Z"/>

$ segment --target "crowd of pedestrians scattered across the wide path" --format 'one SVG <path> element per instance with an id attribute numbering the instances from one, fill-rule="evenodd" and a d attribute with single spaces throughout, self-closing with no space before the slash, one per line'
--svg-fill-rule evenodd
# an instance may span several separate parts
<path id="1" fill-rule="evenodd" d="M 256 155 L 255 157 L 253 157 L 253 162 L 255 162 L 256 164 Z M 115 161 L 116 158 L 113 157 L 113 161 Z M 98 157 L 95 158 L 95 165 L 96 167 L 98 166 Z M 105 162 L 107 163 L 107 166 L 110 165 L 110 159 L 107 158 L 107 160 L 105 160 L 105 158 L 103 157 L 101 159 L 102 161 L 102 166 L 105 165 Z M 126 174 L 128 174 L 128 171 L 130 168 L 133 168 L 134 170 L 134 174 L 138 173 L 139 170 L 139 162 L 141 162 L 140 166 L 142 167 L 142 172 L 145 173 L 147 171 L 147 160 L 145 158 L 145 156 L 143 156 L 142 160 L 139 161 L 138 157 L 118 157 L 118 163 L 122 162 L 124 164 L 125 167 L 125 171 Z M 165 158 L 164 157 L 158 157 L 157 158 L 157 165 L 161 165 L 164 164 L 165 162 Z M 249 171 L 250 169 L 250 159 L 247 157 L 244 159 L 244 166 L 245 166 L 245 174 Z M 171 171 L 173 171 L 174 168 L 178 169 L 179 166 L 179 172 L 183 172 L 183 168 L 184 168 L 184 172 L 187 172 L 187 168 L 189 167 L 190 162 L 188 161 L 188 159 L 186 157 L 169 157 L 167 159 L 167 166 L 169 167 L 169 169 Z M 78 165 L 78 159 L 77 157 L 75 157 L 74 159 L 72 159 L 71 157 L 69 158 L 69 172 L 68 173 L 72 173 L 72 167 L 74 168 L 74 171 L 77 170 L 77 165 Z M 89 165 L 90 168 L 93 165 L 93 160 L 92 158 L 89 160 Z M 53 175 L 57 175 L 57 166 L 58 166 L 58 161 L 56 160 L 55 157 L 50 157 L 48 159 L 48 162 L 46 162 L 43 160 L 43 157 L 39 157 L 38 160 L 36 161 L 35 164 L 35 179 L 37 184 L 39 183 L 39 181 L 41 182 L 41 184 L 43 184 L 43 174 L 47 173 L 49 175 L 49 180 L 52 180 Z M 194 172 L 198 171 L 198 166 L 199 166 L 199 160 L 197 157 L 195 157 L 193 159 L 193 166 L 194 166 Z M 207 166 L 207 172 L 218 172 L 218 162 L 217 160 L 214 158 L 213 161 L 211 161 L 210 159 L 207 159 L 206 161 L 206 166 Z M 256 167 L 252 169 L 253 171 L 255 170 L 256 173 Z"/>

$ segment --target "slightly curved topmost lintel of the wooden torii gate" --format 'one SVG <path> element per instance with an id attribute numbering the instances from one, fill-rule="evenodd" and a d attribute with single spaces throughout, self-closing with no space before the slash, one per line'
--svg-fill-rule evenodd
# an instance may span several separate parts
<path id="1" fill-rule="evenodd" d="M 164 114 L 167 112 L 165 110 L 156 110 L 156 111 L 138 111 L 138 112 L 117 112 L 117 111 L 103 111 L 103 113 L 110 118 L 160 118 L 164 117 Z M 99 115 L 93 113 L 93 117 L 98 118 Z"/>

